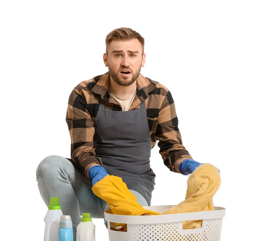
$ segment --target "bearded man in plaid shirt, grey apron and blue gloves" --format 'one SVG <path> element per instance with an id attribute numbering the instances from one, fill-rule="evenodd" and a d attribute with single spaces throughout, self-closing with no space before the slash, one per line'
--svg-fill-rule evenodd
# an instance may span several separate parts
<path id="1" fill-rule="evenodd" d="M 155 174 L 149 158 L 157 140 L 171 171 L 188 175 L 200 165 L 182 145 L 171 93 L 140 74 L 144 38 L 131 28 L 111 31 L 103 60 L 109 71 L 81 82 L 70 94 L 66 121 L 71 159 L 48 156 L 37 168 L 44 202 L 60 197 L 74 235 L 81 213 L 104 218 L 108 205 L 92 186 L 107 174 L 121 177 L 137 202 L 150 205 Z"/>

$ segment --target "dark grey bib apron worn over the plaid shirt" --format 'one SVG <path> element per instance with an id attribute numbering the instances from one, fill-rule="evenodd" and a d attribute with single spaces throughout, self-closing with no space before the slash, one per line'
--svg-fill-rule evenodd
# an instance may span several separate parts
<path id="1" fill-rule="evenodd" d="M 110 111 L 99 99 L 93 137 L 96 156 L 108 174 L 121 177 L 128 189 L 139 192 L 150 205 L 155 174 L 150 168 L 152 145 L 145 101 L 140 109 Z"/>

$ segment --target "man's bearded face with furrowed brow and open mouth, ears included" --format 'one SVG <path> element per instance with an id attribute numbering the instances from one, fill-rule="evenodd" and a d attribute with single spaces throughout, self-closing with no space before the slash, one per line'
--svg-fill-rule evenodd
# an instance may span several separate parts
<path id="1" fill-rule="evenodd" d="M 112 40 L 107 54 L 103 55 L 105 66 L 118 85 L 131 85 L 145 64 L 145 54 L 142 55 L 142 45 L 137 39 Z"/>

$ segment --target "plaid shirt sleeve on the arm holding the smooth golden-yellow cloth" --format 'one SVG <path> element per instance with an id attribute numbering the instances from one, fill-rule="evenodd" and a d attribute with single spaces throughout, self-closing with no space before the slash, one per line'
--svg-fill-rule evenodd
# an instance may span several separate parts
<path id="1" fill-rule="evenodd" d="M 100 158 L 95 156 L 96 143 L 93 119 L 87 108 L 85 97 L 74 88 L 70 94 L 67 107 L 66 122 L 71 138 L 71 160 L 78 168 L 87 168 L 92 164 L 103 166 Z"/>

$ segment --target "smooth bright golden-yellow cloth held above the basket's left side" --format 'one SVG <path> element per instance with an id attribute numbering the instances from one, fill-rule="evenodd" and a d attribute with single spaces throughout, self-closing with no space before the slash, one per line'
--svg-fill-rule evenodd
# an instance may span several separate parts
<path id="1" fill-rule="evenodd" d="M 105 176 L 96 182 L 92 188 L 93 193 L 108 202 L 113 214 L 116 215 L 160 215 L 150 210 L 145 210 L 137 198 L 131 193 L 122 178 L 117 176 Z"/>

